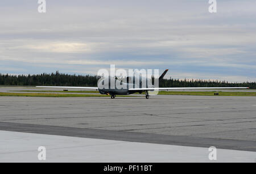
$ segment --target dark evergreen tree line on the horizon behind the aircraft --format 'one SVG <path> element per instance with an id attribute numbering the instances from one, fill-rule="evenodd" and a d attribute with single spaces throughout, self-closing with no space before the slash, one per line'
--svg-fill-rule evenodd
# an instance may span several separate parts
<path id="1" fill-rule="evenodd" d="M 0 85 L 11 86 L 90 86 L 96 87 L 100 77 L 97 75 L 70 75 L 59 71 L 51 74 L 8 75 L 0 74 Z M 256 82 L 229 83 L 218 80 L 180 80 L 162 79 L 159 87 L 250 87 L 256 88 Z"/>

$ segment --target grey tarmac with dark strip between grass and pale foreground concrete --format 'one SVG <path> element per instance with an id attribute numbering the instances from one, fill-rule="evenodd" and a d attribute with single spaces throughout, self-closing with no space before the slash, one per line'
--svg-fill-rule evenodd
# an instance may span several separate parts
<path id="1" fill-rule="evenodd" d="M 256 151 L 256 97 L 0 97 L 0 111 L 0 130 Z"/>

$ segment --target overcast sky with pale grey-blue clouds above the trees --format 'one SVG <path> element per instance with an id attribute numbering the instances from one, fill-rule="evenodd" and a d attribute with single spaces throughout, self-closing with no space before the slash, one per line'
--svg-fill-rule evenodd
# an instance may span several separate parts
<path id="1" fill-rule="evenodd" d="M 0 73 L 169 69 L 167 77 L 256 81 L 256 1 L 0 1 Z"/>

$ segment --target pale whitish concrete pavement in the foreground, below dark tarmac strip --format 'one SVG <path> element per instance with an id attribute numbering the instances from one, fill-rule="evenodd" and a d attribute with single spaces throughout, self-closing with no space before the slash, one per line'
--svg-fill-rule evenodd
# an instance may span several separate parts
<path id="1" fill-rule="evenodd" d="M 256 152 L 0 131 L 0 162 L 255 162 Z M 46 147 L 46 161 L 38 147 Z"/>

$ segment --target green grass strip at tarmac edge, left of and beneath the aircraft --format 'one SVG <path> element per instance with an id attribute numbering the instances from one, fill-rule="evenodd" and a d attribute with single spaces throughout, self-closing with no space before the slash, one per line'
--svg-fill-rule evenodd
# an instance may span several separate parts
<path id="1" fill-rule="evenodd" d="M 0 92 L 0 96 L 20 96 L 20 97 L 110 97 L 109 95 L 98 94 L 53 94 L 53 93 L 15 93 Z M 126 95 L 118 95 L 121 97 L 129 97 Z M 131 96 L 130 96 L 131 97 Z"/>

